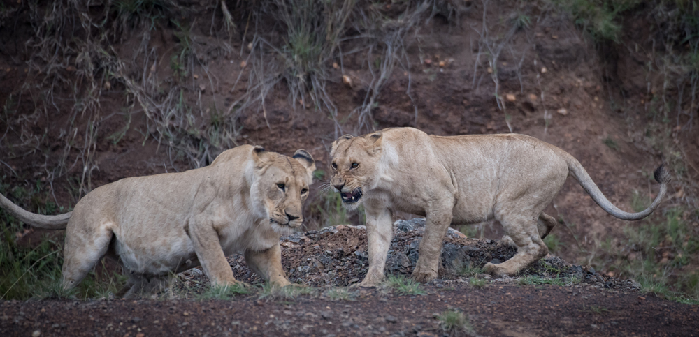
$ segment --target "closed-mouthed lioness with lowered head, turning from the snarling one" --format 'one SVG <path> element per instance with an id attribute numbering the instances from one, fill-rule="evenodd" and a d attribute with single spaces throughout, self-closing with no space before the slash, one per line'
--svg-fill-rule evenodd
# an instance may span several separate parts
<path id="1" fill-rule="evenodd" d="M 1 206 L 34 227 L 66 228 L 62 286 L 80 283 L 103 256 L 129 273 L 120 296 L 152 292 L 168 275 L 203 267 L 212 285 L 237 283 L 226 255 L 243 250 L 247 265 L 275 285 L 289 285 L 280 234 L 301 226 L 315 162 L 243 145 L 210 166 L 134 177 L 87 193 L 72 214 L 41 216 L 0 195 Z M 66 226 L 67 223 L 67 226 Z"/>

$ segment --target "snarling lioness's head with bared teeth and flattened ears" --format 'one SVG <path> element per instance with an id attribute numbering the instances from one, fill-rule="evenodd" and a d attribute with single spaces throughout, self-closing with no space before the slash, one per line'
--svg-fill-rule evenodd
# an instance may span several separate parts
<path id="1" fill-rule="evenodd" d="M 348 209 L 359 207 L 363 190 L 372 188 L 380 176 L 381 142 L 380 132 L 359 137 L 343 135 L 333 142 L 330 182 Z"/>

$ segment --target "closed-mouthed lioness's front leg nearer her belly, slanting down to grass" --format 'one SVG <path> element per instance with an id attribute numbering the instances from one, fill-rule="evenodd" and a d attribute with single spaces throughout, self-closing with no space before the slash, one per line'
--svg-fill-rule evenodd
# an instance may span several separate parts
<path id="1" fill-rule="evenodd" d="M 189 237 L 192 239 L 194 253 L 212 286 L 238 283 L 233 277 L 233 269 L 226 261 L 218 234 L 210 222 L 190 223 Z"/>

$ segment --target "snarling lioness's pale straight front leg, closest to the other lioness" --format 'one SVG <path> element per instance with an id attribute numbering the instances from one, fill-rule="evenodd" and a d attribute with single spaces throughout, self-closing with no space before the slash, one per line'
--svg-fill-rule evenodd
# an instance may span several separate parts
<path id="1" fill-rule="evenodd" d="M 391 212 L 383 205 L 366 207 L 366 237 L 369 249 L 369 270 L 360 287 L 375 287 L 384 279 L 386 258 L 393 239 Z"/>

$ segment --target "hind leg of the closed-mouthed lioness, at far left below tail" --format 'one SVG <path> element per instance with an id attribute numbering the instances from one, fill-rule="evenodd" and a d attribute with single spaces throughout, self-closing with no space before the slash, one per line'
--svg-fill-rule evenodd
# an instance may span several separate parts
<path id="1" fill-rule="evenodd" d="M 85 228 L 80 224 L 69 223 L 66 228 L 66 246 L 61 272 L 61 284 L 64 290 L 80 284 L 94 265 L 106 255 L 112 236 L 112 231 L 106 229 L 106 226 Z"/>

